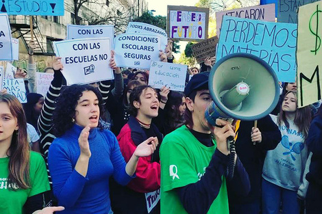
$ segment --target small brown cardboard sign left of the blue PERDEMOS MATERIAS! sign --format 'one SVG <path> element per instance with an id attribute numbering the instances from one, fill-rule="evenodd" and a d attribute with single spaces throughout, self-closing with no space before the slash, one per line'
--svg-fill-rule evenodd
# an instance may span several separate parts
<path id="1" fill-rule="evenodd" d="M 216 45 L 218 43 L 217 36 L 203 40 L 197 44 L 193 44 L 191 49 L 198 63 L 203 62 L 206 57 L 214 57 L 216 55 Z"/>

